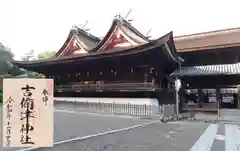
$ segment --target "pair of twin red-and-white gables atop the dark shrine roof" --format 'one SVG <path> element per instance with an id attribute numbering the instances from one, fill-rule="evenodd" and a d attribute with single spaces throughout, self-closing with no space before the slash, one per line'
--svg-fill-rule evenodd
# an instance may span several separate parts
<path id="1" fill-rule="evenodd" d="M 118 15 L 102 40 L 75 26 L 70 30 L 63 46 L 52 58 L 72 56 L 74 52 L 78 52 L 75 53 L 76 55 L 82 55 L 88 52 L 119 49 L 118 47 L 127 48 L 148 42 L 147 37 Z"/>

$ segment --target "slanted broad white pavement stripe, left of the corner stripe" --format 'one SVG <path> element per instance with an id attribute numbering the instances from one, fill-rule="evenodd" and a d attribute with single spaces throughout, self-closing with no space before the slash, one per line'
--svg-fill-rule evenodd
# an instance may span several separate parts
<path id="1" fill-rule="evenodd" d="M 217 131 L 217 124 L 209 125 L 190 151 L 210 151 Z"/>

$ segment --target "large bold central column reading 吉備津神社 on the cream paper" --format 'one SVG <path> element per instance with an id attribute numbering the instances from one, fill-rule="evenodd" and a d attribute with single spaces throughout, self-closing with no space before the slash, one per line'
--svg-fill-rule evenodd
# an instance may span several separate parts
<path id="1" fill-rule="evenodd" d="M 34 127 L 31 125 L 31 119 L 34 119 L 34 99 L 32 97 L 32 90 L 35 90 L 35 87 L 26 85 L 25 87 L 22 87 L 21 90 L 23 91 L 23 96 L 20 107 L 23 111 L 21 112 L 20 120 L 23 122 L 20 129 L 20 143 L 35 144 L 29 135 L 29 132 L 34 130 Z"/>

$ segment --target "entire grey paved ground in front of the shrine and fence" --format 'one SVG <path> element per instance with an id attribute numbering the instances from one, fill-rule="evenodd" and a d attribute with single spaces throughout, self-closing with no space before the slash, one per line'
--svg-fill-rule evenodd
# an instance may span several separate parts
<path id="1" fill-rule="evenodd" d="M 55 142 L 150 122 L 124 116 L 55 112 Z M 3 150 L 3 149 L 2 149 Z M 2 151 L 0 149 L 0 151 Z M 11 151 L 16 149 L 11 149 Z M 172 122 L 55 145 L 37 151 L 239 151 L 239 123 Z M 6 150 L 10 151 L 10 150 Z"/>

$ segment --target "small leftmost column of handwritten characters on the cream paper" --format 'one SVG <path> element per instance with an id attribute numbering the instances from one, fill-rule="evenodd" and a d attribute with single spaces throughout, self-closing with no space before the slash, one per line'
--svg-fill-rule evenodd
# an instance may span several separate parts
<path id="1" fill-rule="evenodd" d="M 6 105 L 7 108 L 7 113 L 6 113 L 6 118 L 7 118 L 7 127 L 6 127 L 6 140 L 7 140 L 7 144 L 6 146 L 10 146 L 11 145 L 11 131 L 12 131 L 12 123 L 11 123 L 11 118 L 12 118 L 12 102 L 14 102 L 14 100 L 12 99 L 12 97 L 10 96 L 7 101 L 5 102 L 4 105 Z"/>

